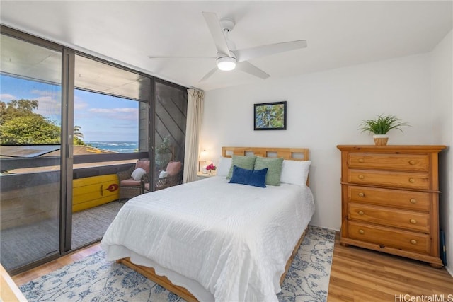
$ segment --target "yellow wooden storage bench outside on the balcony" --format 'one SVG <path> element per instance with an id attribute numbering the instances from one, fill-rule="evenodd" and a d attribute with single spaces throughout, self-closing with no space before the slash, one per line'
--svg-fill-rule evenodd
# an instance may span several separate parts
<path id="1" fill-rule="evenodd" d="M 72 184 L 73 212 L 113 202 L 120 197 L 116 174 L 79 178 Z"/>

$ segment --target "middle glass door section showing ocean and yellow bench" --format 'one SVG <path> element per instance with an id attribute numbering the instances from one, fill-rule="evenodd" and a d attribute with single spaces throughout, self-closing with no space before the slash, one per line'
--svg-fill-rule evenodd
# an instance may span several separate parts
<path id="1" fill-rule="evenodd" d="M 117 176 L 105 167 L 149 158 L 151 79 L 76 54 L 74 87 L 71 247 L 78 248 L 99 240 L 122 207 Z M 137 158 L 117 159 L 127 153 Z"/>

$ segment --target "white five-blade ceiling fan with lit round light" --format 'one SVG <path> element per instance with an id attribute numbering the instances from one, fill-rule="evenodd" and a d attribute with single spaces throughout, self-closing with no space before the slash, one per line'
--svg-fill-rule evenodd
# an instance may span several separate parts
<path id="1" fill-rule="evenodd" d="M 219 20 L 216 13 L 205 11 L 202 12 L 202 15 L 205 17 L 207 27 L 210 29 L 210 33 L 214 39 L 214 44 L 217 49 L 216 57 L 206 58 L 216 59 L 217 66 L 203 76 L 200 82 L 208 79 L 217 70 L 230 71 L 233 69 L 239 69 L 248 74 L 252 74 L 253 76 L 258 76 L 260 79 L 268 79 L 270 76 L 269 74 L 266 74 L 265 71 L 249 63 L 248 60 L 306 47 L 306 40 L 296 40 L 236 50 L 236 45 L 234 45 L 234 42 L 228 38 L 228 33 L 234 28 L 234 20 L 230 18 L 222 18 Z M 151 59 L 168 58 L 149 57 Z"/>

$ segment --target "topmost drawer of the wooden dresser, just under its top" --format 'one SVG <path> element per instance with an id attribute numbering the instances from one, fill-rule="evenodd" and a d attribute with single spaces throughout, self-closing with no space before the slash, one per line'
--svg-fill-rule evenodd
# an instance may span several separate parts
<path id="1" fill-rule="evenodd" d="M 428 172 L 428 155 L 349 153 L 349 168 Z"/>

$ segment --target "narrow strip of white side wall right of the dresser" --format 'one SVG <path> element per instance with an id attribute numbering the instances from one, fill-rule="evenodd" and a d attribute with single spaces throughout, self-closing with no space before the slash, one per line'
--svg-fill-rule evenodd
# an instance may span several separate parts
<path id="1" fill-rule="evenodd" d="M 453 276 L 453 31 L 431 54 L 432 133 L 435 144 L 449 149 L 440 154 L 440 228 L 447 243 L 447 270 Z"/>

